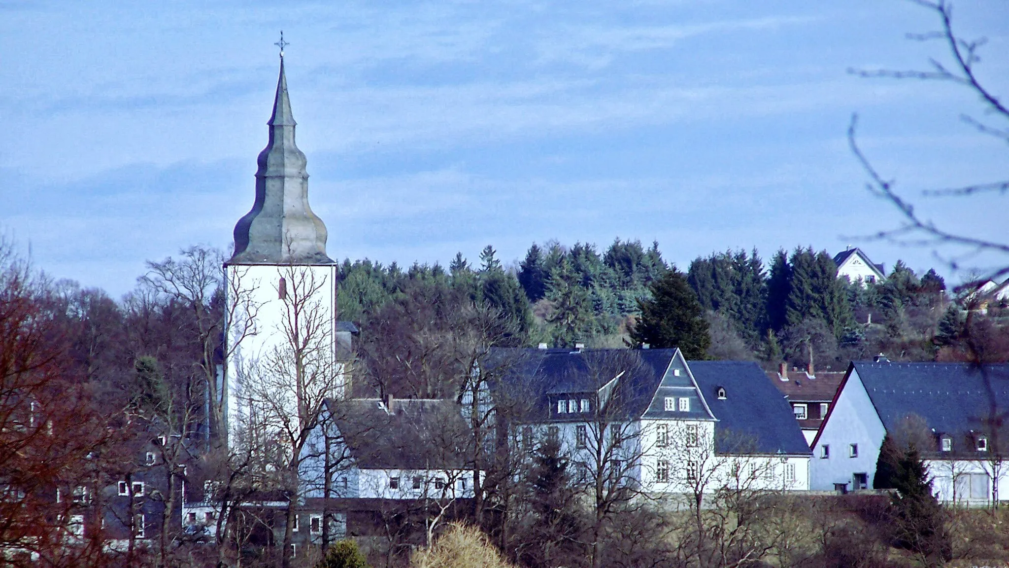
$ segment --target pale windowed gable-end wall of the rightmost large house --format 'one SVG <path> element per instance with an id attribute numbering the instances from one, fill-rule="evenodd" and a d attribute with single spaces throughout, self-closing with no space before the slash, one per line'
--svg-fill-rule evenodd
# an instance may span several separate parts
<path id="1" fill-rule="evenodd" d="M 852 369 L 812 448 L 810 489 L 833 490 L 834 483 L 847 483 L 852 489 L 855 473 L 865 473 L 871 488 L 885 437 L 886 430 L 869 393 L 858 372 Z M 852 444 L 859 446 L 857 458 L 850 457 Z M 822 457 L 823 446 L 829 446 L 828 458 Z"/>

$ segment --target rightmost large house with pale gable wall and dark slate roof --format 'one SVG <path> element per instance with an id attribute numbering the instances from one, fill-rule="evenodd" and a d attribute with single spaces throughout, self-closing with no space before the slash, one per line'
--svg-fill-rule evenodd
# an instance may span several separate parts
<path id="1" fill-rule="evenodd" d="M 813 489 L 874 487 L 884 439 L 913 443 L 939 499 L 1009 496 L 1009 365 L 856 362 L 813 443 Z"/>

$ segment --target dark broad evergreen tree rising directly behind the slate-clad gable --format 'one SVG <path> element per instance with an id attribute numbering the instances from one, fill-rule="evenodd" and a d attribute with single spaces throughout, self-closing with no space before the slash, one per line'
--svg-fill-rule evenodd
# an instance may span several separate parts
<path id="1" fill-rule="evenodd" d="M 652 283 L 652 298 L 640 300 L 641 318 L 631 332 L 637 344 L 678 347 L 687 359 L 704 359 L 711 345 L 697 295 L 683 273 L 671 269 Z"/>

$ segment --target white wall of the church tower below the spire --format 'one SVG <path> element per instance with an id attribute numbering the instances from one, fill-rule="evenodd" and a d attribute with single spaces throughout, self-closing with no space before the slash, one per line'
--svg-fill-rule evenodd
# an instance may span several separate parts
<path id="1" fill-rule="evenodd" d="M 337 360 L 336 265 L 227 265 L 224 385 L 229 444 L 251 424 L 298 416 L 292 338 L 308 343 L 303 399 L 342 396 Z M 284 296 L 284 297 L 282 297 Z"/>

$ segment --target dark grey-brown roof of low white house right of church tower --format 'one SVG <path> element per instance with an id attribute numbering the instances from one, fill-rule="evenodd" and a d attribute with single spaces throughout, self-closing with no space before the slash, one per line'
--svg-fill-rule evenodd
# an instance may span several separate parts
<path id="1" fill-rule="evenodd" d="M 466 423 L 450 399 L 331 400 L 333 419 L 362 469 L 458 469 L 466 466 Z"/>

